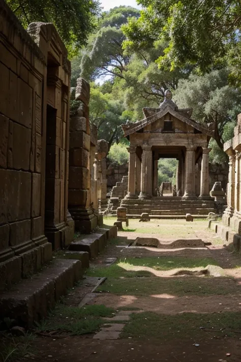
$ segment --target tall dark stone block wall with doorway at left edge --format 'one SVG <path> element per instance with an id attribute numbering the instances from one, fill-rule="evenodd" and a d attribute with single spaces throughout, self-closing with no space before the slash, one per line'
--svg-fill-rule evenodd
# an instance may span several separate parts
<path id="1" fill-rule="evenodd" d="M 59 247 L 73 237 L 70 64 L 52 24 L 32 23 L 28 31 L 35 41 L 0 0 L 0 290 L 51 259 L 47 237 Z"/>

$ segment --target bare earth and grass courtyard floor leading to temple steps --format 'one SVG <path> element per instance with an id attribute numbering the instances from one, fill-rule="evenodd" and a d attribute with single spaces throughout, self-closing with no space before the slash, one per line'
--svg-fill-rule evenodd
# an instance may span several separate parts
<path id="1" fill-rule="evenodd" d="M 114 221 L 105 220 L 108 225 Z M 156 237 L 163 242 L 196 238 L 211 244 L 178 249 L 127 247 L 137 236 Z M 117 257 L 117 262 L 107 267 L 105 260 L 109 257 Z M 209 276 L 192 274 L 207 265 L 213 265 Z M 87 274 L 107 276 L 89 304 L 125 308 L 133 313 L 138 309 L 126 322 L 120 338 L 99 341 L 93 339 L 93 333 L 39 335 L 34 342 L 36 352 L 23 360 L 241 360 L 241 257 L 207 229 L 207 220 L 130 220 L 126 231 L 118 233 Z M 67 305 L 77 306 L 91 289 L 83 280 L 69 292 Z"/>

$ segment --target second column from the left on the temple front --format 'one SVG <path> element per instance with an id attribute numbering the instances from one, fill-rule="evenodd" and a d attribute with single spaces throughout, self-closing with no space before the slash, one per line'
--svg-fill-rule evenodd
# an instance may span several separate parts
<path id="1" fill-rule="evenodd" d="M 152 147 L 148 144 L 142 146 L 141 157 L 141 192 L 139 199 L 150 199 L 152 195 Z"/>

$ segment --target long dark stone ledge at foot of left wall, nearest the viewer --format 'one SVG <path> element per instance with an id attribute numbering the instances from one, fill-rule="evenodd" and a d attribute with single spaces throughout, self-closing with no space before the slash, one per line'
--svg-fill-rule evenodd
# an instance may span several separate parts
<path id="1" fill-rule="evenodd" d="M 32 327 L 34 321 L 47 316 L 48 310 L 82 274 L 79 260 L 54 259 L 41 272 L 0 295 L 0 320 L 18 316 L 18 325 Z"/>

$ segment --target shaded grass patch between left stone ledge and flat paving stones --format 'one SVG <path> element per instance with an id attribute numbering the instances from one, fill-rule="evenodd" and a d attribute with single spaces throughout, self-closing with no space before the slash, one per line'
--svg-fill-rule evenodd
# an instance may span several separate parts
<path id="1" fill-rule="evenodd" d="M 69 307 L 57 303 L 49 317 L 37 324 L 39 331 L 65 331 L 71 335 L 94 333 L 105 322 L 101 317 L 112 317 L 115 311 L 105 305 Z"/>

